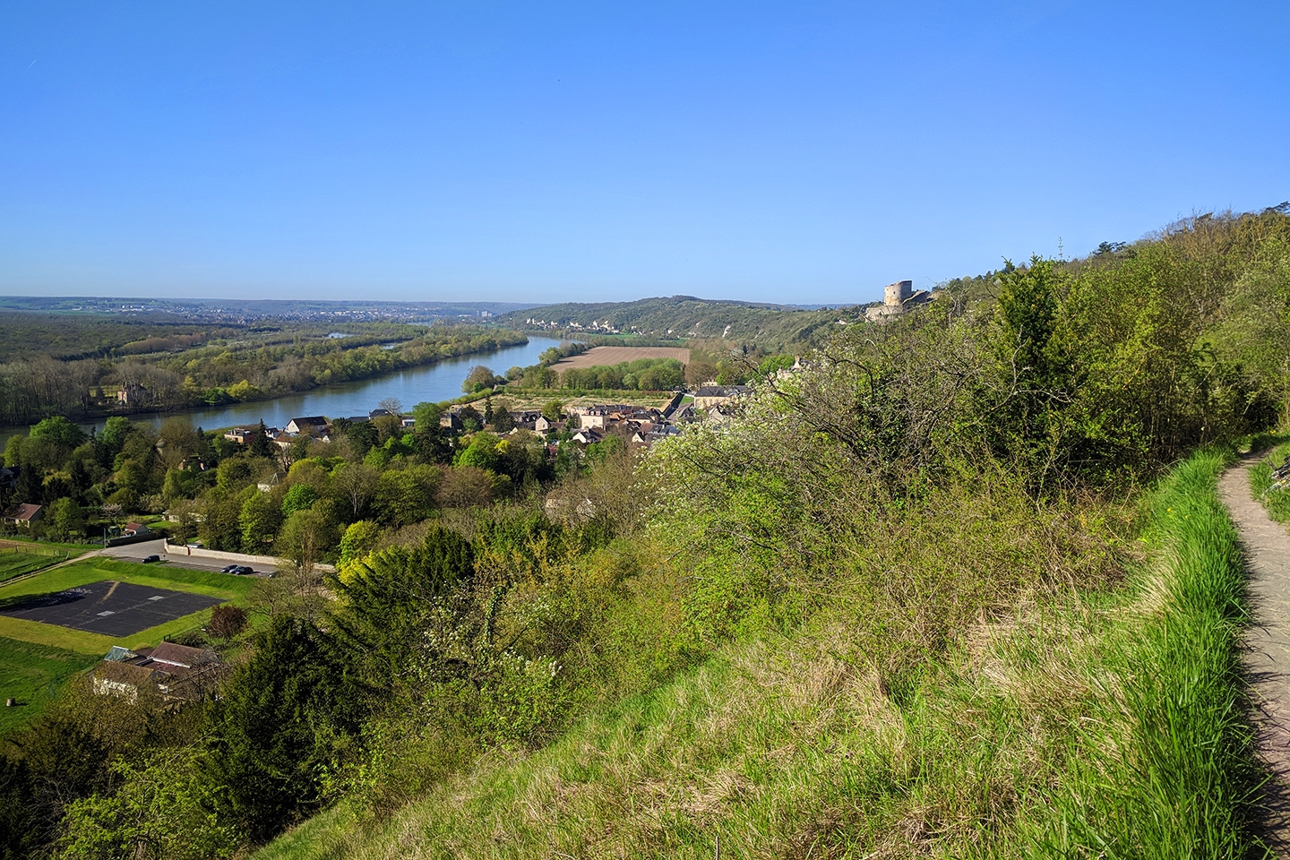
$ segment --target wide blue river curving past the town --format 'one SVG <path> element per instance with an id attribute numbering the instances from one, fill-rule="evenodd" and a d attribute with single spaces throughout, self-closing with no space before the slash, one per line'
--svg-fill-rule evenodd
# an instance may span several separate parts
<path id="1" fill-rule="evenodd" d="M 386 397 L 393 397 L 405 410 L 421 402 L 440 402 L 462 396 L 462 380 L 466 371 L 475 365 L 486 365 L 493 373 L 503 374 L 508 369 L 538 364 L 538 356 L 560 342 L 551 338 L 529 337 L 529 343 L 521 347 L 507 347 L 494 352 L 477 352 L 461 358 L 448 358 L 435 365 L 396 370 L 384 376 L 342 382 L 322 386 L 303 395 L 288 395 L 276 400 L 258 400 L 250 404 L 228 404 L 212 409 L 188 409 L 174 413 L 147 413 L 130 415 L 132 422 L 160 425 L 166 418 L 183 415 L 194 425 L 205 429 L 217 427 L 254 427 L 261 419 L 267 427 L 286 427 L 293 418 L 302 415 L 326 415 L 328 418 L 348 418 L 366 415 Z M 102 428 L 104 419 L 81 423 L 86 431 L 90 427 Z M 27 428 L 0 429 L 0 451 L 4 442 Z"/>

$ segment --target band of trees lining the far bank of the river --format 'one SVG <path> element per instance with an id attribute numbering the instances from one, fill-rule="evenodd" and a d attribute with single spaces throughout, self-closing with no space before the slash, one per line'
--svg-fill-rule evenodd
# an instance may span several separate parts
<path id="1" fill-rule="evenodd" d="M 120 411 L 126 389 L 130 411 L 170 410 L 259 400 L 334 382 L 365 379 L 402 367 L 524 343 L 515 331 L 480 326 L 350 324 L 353 337 L 315 339 L 266 333 L 181 352 L 104 360 L 58 361 L 34 357 L 0 364 L 0 424 L 22 424 L 50 414 L 75 419 Z M 384 344 L 387 337 L 409 339 Z M 285 343 L 273 343 L 283 339 Z M 266 340 L 270 340 L 266 343 Z"/>

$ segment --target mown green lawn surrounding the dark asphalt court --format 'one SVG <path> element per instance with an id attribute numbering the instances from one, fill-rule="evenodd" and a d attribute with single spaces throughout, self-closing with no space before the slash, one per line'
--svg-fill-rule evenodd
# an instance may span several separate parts
<path id="1" fill-rule="evenodd" d="M 228 574 L 182 570 L 166 565 L 138 565 L 107 558 L 88 558 L 0 587 L 0 603 L 15 597 L 48 594 L 101 580 L 119 580 L 172 591 L 194 592 L 245 603 L 255 580 Z M 159 624 L 134 636 L 114 638 L 18 618 L 0 616 L 0 699 L 9 696 L 19 708 L 0 709 L 0 735 L 37 716 L 57 698 L 58 689 L 98 663 L 114 645 L 157 645 L 204 625 L 210 610 Z"/>

